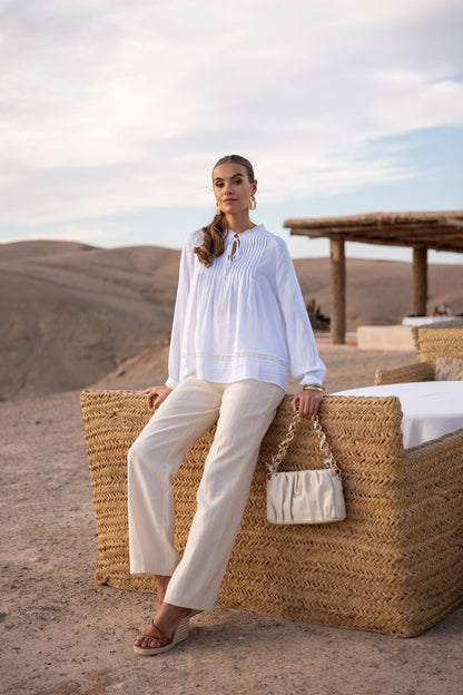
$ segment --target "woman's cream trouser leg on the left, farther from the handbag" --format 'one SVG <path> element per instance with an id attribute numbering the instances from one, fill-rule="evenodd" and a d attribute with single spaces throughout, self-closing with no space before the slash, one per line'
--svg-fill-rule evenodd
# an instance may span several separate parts
<path id="1" fill-rule="evenodd" d="M 219 412 L 223 385 L 185 379 L 152 415 L 128 457 L 130 571 L 170 576 L 174 548 L 171 480 Z"/>

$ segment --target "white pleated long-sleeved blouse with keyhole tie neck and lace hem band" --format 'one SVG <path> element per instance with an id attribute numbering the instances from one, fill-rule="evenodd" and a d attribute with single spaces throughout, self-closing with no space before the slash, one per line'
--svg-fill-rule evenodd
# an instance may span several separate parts
<path id="1" fill-rule="evenodd" d="M 325 365 L 285 242 L 264 226 L 232 231 L 210 267 L 190 234 L 180 257 L 167 386 L 188 374 L 219 383 L 255 379 L 287 385 L 321 383 Z"/>

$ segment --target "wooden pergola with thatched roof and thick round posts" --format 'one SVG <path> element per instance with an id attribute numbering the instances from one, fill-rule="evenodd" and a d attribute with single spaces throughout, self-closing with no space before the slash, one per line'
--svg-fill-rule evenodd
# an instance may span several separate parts
<path id="1" fill-rule="evenodd" d="M 412 312 L 418 316 L 426 314 L 427 249 L 463 253 L 463 211 L 286 219 L 284 226 L 297 236 L 329 238 L 333 343 L 344 343 L 346 332 L 345 242 L 413 248 Z"/>

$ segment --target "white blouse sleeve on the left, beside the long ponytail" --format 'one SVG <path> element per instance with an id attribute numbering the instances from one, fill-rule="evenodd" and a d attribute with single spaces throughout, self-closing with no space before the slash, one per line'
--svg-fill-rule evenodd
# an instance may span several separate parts
<path id="1" fill-rule="evenodd" d="M 169 386 L 170 389 L 175 389 L 180 381 L 184 329 L 195 260 L 193 252 L 194 246 L 195 244 L 191 243 L 191 238 L 188 238 L 184 244 L 180 255 L 177 297 L 175 302 L 173 330 L 170 334 L 169 376 L 166 381 L 166 386 Z"/>

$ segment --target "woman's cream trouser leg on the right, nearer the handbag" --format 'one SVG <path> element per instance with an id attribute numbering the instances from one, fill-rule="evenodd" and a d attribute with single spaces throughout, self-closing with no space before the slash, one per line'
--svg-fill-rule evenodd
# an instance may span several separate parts
<path id="1" fill-rule="evenodd" d="M 187 546 L 166 593 L 166 603 L 211 609 L 246 506 L 262 439 L 284 391 L 245 380 L 227 384 L 214 443 L 198 489 Z"/>

